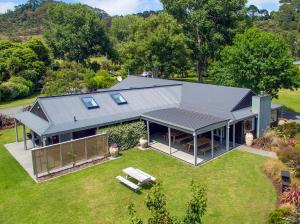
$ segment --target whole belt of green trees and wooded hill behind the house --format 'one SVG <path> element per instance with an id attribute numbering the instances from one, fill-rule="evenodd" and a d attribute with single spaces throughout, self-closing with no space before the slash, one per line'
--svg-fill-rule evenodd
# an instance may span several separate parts
<path id="1" fill-rule="evenodd" d="M 0 101 L 95 91 L 144 71 L 275 98 L 299 87 L 300 0 L 282 0 L 277 12 L 246 0 L 161 2 L 162 11 L 110 16 L 29 0 L 0 15 Z"/>

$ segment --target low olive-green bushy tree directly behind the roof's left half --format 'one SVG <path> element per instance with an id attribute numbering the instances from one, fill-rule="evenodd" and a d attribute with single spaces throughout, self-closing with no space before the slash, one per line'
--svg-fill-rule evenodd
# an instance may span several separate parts
<path id="1" fill-rule="evenodd" d="M 48 70 L 42 92 L 46 95 L 81 92 L 87 73 L 93 72 L 76 62 L 63 62 L 57 71 Z"/>

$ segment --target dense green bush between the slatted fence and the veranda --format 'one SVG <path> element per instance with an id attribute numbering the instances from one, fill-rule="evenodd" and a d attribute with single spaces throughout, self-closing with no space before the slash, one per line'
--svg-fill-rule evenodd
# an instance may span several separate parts
<path id="1" fill-rule="evenodd" d="M 131 122 L 103 128 L 100 132 L 108 134 L 108 144 L 116 143 L 120 150 L 137 146 L 139 139 L 146 136 L 145 124 L 142 121 Z"/>

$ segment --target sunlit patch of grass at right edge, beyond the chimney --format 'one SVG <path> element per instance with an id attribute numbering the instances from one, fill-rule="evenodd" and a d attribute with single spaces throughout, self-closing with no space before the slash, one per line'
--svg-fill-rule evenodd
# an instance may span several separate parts
<path id="1" fill-rule="evenodd" d="M 300 113 L 300 89 L 281 90 L 279 92 L 279 98 L 273 100 L 275 103 L 282 103 L 288 110 Z"/>

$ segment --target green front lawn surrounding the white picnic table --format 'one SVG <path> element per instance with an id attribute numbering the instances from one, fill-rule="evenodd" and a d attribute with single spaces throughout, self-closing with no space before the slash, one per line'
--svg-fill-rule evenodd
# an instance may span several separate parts
<path id="1" fill-rule="evenodd" d="M 264 223 L 274 209 L 276 194 L 261 171 L 265 158 L 233 151 L 194 168 L 167 155 L 130 150 L 120 159 L 42 184 L 34 183 L 4 149 L 14 130 L 0 131 L 0 223 L 129 223 L 126 206 L 143 204 L 148 190 L 137 194 L 115 176 L 128 166 L 138 167 L 163 182 L 173 215 L 182 216 L 192 179 L 208 189 L 205 223 Z"/>

